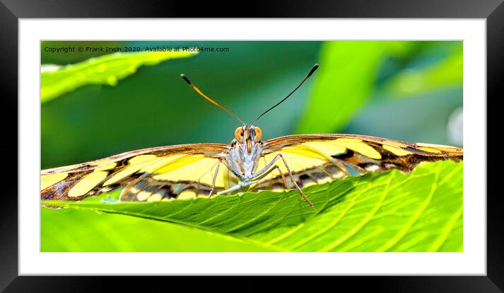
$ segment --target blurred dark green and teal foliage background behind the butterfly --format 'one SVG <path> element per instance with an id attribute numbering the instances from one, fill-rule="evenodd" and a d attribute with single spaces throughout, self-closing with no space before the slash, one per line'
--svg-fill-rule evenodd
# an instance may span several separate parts
<path id="1" fill-rule="evenodd" d="M 42 64 L 87 61 L 103 53 L 46 52 Z M 448 119 L 462 106 L 462 42 L 78 42 L 82 46 L 205 46 L 142 66 L 118 85 L 83 85 L 42 105 L 42 168 L 151 146 L 232 139 L 239 123 L 183 80 L 242 119 L 256 118 L 288 94 L 314 63 L 320 69 L 258 121 L 265 139 L 296 132 L 376 135 L 454 144 Z M 317 123 L 317 120 L 319 123 Z"/>

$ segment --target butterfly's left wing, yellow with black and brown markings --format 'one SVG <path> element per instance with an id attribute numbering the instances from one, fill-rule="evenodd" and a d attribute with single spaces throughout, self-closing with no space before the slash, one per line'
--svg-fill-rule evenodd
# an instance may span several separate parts
<path id="1" fill-rule="evenodd" d="M 122 187 L 121 201 L 208 196 L 227 151 L 226 144 L 160 146 L 42 170 L 41 198 L 81 200 Z M 215 192 L 225 189 L 225 175 L 219 172 Z"/>

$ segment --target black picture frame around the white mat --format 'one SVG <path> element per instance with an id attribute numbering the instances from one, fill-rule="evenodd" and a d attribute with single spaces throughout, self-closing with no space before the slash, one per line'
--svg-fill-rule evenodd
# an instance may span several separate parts
<path id="1" fill-rule="evenodd" d="M 225 6 L 225 7 L 224 7 Z M 226 8 L 226 9 L 224 9 Z M 0 0 L 1 58 L 1 122 L 4 127 L 2 154 L 12 160 L 8 168 L 0 168 L 3 192 L 0 204 L 0 290 L 5 292 L 94 292 L 106 289 L 108 280 L 99 277 L 21 277 L 18 276 L 18 19 L 19 18 L 180 18 L 180 17 L 253 17 L 253 18 L 482 18 L 486 19 L 487 96 L 486 101 L 502 97 L 504 80 L 504 4 L 503 0 L 344 0 L 344 1 L 255 1 L 234 5 L 215 1 L 77 1 Z M 494 129 L 489 124 L 489 128 Z M 491 132 L 494 133 L 494 132 Z M 14 156 L 17 154 L 17 156 Z M 485 156 L 481 159 L 486 160 Z M 488 175 L 494 175 L 488 172 Z M 18 178 L 19 179 L 19 178 Z M 351 277 L 339 278 L 338 287 L 350 285 L 352 290 L 369 288 L 386 292 L 503 292 L 504 291 L 504 213 L 500 211 L 501 195 L 487 197 L 487 259 L 484 276 L 439 277 Z M 484 197 L 485 194 L 481 194 Z M 26 194 L 24 196 L 27 196 Z M 360 279 L 369 280 L 360 280 Z M 359 279 L 359 280 L 358 280 Z M 170 285 L 171 280 L 158 278 Z M 241 290 L 260 289 L 255 279 L 237 279 Z M 151 281 L 149 281 L 151 282 Z M 182 282 L 185 282 L 182 280 Z M 223 284 L 225 282 L 225 284 Z M 114 279 L 114 287 L 143 288 L 137 278 Z M 228 281 L 213 278 L 191 282 L 191 289 L 208 286 L 227 287 Z M 297 289 L 312 288 L 313 282 L 275 282 L 268 289 L 296 285 Z M 277 287 L 277 288 L 275 288 Z M 118 288 L 116 288 L 118 289 Z M 230 286 L 230 289 L 233 289 Z M 236 289 L 236 288 L 235 288 Z"/>

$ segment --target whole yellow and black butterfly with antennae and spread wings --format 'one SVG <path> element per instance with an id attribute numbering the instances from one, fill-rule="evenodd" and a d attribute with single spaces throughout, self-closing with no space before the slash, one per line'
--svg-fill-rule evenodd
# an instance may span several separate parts
<path id="1" fill-rule="evenodd" d="M 411 171 L 423 161 L 461 161 L 454 146 L 402 142 L 365 135 L 287 135 L 261 140 L 255 123 L 282 104 L 313 75 L 252 123 L 244 123 L 181 77 L 204 99 L 239 120 L 230 144 L 179 144 L 139 149 L 96 161 L 42 170 L 41 199 L 79 201 L 122 189 L 120 201 L 168 201 L 263 189 L 297 189 L 360 173 L 392 168 Z"/>

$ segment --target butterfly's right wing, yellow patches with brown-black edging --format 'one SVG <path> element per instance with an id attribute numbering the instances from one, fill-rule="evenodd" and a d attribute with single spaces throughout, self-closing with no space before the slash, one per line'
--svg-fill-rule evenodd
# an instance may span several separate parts
<path id="1" fill-rule="evenodd" d="M 402 142 L 364 135 L 288 135 L 264 143 L 258 170 L 282 154 L 300 186 L 322 183 L 349 175 L 348 168 L 360 173 L 397 168 L 409 172 L 422 161 L 460 161 L 463 150 L 453 146 Z M 277 163 L 282 173 L 287 170 Z M 253 190 L 284 186 L 279 172 Z"/>

